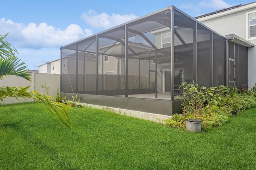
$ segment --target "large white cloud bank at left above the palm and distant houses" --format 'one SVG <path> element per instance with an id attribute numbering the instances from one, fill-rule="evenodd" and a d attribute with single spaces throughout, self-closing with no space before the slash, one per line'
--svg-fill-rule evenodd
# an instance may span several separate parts
<path id="1" fill-rule="evenodd" d="M 92 35 L 92 30 L 83 31 L 77 24 L 70 24 L 65 30 L 60 30 L 46 23 L 29 23 L 26 26 L 2 18 L 0 25 L 0 34 L 10 32 L 6 39 L 8 42 L 24 48 L 60 47 Z"/>

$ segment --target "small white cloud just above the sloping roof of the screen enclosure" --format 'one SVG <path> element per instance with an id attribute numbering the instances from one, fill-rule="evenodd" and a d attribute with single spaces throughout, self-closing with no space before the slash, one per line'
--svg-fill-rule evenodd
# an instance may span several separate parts
<path id="1" fill-rule="evenodd" d="M 94 10 L 88 10 L 88 12 L 83 13 L 80 18 L 82 18 L 82 20 L 84 20 L 93 28 L 108 29 L 138 17 L 135 16 L 134 14 L 120 15 L 120 14 L 114 14 L 114 13 L 110 16 L 105 12 L 101 14 L 97 14 L 97 12 L 95 12 Z"/>

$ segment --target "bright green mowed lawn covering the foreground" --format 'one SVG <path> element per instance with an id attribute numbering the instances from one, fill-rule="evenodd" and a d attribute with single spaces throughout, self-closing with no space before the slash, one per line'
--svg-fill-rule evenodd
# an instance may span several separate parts
<path id="1" fill-rule="evenodd" d="M 90 108 L 64 127 L 42 103 L 0 106 L 0 169 L 254 170 L 256 109 L 202 133 Z"/>

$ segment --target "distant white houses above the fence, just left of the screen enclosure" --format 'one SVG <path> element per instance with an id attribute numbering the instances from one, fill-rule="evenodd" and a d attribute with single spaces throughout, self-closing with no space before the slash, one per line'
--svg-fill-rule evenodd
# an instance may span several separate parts
<path id="1" fill-rule="evenodd" d="M 38 73 L 60 74 L 60 59 L 48 61 L 38 66 Z"/>

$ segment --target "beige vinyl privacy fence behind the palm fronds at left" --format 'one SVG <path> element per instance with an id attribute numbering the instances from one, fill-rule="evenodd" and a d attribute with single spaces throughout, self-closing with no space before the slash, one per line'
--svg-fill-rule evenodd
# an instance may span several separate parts
<path id="1" fill-rule="evenodd" d="M 41 85 L 45 85 L 49 87 L 49 95 L 55 97 L 57 94 L 57 90 L 59 89 L 60 93 L 60 74 L 39 74 L 32 73 L 31 74 L 32 81 L 28 81 L 22 77 L 16 76 L 7 76 L 0 80 L 0 86 L 13 86 L 13 87 L 27 87 L 30 85 L 28 91 L 35 90 L 38 92 L 46 93 L 45 89 L 43 91 Z M 28 102 L 34 101 L 34 99 L 30 98 L 19 98 L 19 101 L 15 97 L 4 98 L 4 101 L 1 102 L 1 105 L 11 104 L 11 103 L 19 103 L 19 102 Z"/>

